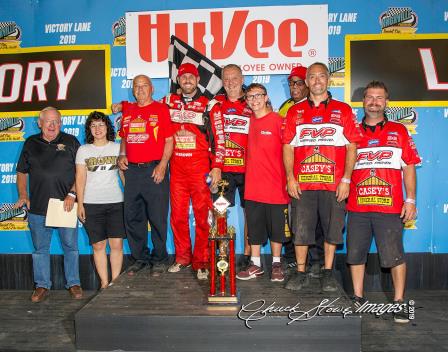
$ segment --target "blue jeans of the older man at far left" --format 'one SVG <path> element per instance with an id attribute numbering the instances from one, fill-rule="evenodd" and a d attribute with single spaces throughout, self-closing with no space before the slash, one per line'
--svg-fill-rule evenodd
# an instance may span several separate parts
<path id="1" fill-rule="evenodd" d="M 36 287 L 51 288 L 50 276 L 50 243 L 54 229 L 59 232 L 64 250 L 64 272 L 66 288 L 80 285 L 78 228 L 46 227 L 45 216 L 28 214 L 28 225 L 33 239 L 33 274 Z"/>

